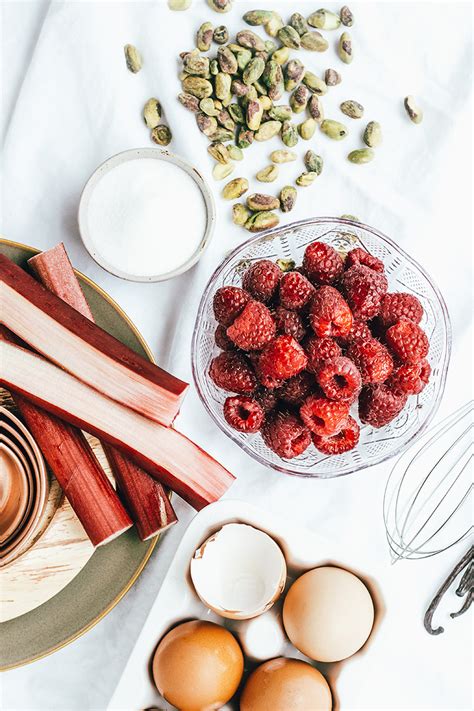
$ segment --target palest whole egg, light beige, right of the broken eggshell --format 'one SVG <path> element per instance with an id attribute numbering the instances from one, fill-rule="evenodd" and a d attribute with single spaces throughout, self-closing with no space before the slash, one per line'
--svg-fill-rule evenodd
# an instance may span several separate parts
<path id="1" fill-rule="evenodd" d="M 332 566 L 298 578 L 283 605 L 290 641 L 319 662 L 337 662 L 357 652 L 373 622 L 374 604 L 364 583 L 348 570 Z"/>

